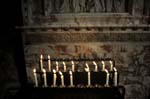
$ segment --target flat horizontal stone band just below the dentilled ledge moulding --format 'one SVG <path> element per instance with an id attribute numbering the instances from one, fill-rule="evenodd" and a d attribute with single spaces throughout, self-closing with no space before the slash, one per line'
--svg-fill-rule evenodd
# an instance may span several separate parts
<path id="1" fill-rule="evenodd" d="M 26 44 L 59 42 L 150 42 L 150 33 L 28 33 Z"/>

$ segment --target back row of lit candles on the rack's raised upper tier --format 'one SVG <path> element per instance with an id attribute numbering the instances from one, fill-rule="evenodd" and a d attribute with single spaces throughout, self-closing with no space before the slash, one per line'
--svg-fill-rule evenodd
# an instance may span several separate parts
<path id="1" fill-rule="evenodd" d="M 63 70 L 64 70 L 64 72 L 66 72 L 66 70 L 67 70 L 66 63 L 64 61 L 62 63 L 63 63 Z M 104 71 L 105 70 L 105 62 L 101 61 L 101 63 L 102 63 L 102 71 Z M 110 63 L 110 71 L 113 71 L 113 61 L 110 60 L 109 63 Z M 71 61 L 71 64 L 72 64 L 71 70 L 72 70 L 72 72 L 74 72 L 75 71 L 74 61 Z M 97 72 L 98 71 L 98 65 L 95 61 L 93 61 L 93 64 L 95 66 L 94 71 Z M 51 70 L 52 70 L 51 67 L 52 67 L 51 66 L 51 59 L 50 59 L 50 55 L 48 55 L 48 70 L 49 70 L 49 72 L 51 72 Z M 43 55 L 40 56 L 40 68 L 41 68 L 41 70 L 43 70 Z M 59 71 L 58 61 L 56 61 L 56 71 Z"/>

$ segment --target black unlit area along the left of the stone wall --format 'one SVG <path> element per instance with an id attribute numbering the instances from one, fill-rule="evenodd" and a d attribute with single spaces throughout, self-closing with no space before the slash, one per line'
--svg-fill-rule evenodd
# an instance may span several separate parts
<path id="1" fill-rule="evenodd" d="M 15 27 L 22 25 L 21 0 L 1 2 L 0 24 L 0 99 L 3 99 L 10 95 L 9 88 L 13 90 L 20 86 L 17 66 L 23 63 L 20 58 L 23 50 L 21 35 Z"/>

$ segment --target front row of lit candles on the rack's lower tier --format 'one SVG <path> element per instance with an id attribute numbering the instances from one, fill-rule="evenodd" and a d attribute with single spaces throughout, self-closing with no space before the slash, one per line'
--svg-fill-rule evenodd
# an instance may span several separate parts
<path id="1" fill-rule="evenodd" d="M 117 69 L 115 67 L 113 67 L 114 70 L 114 86 L 117 86 Z M 43 71 L 43 78 L 44 78 L 44 87 L 47 87 L 47 77 L 46 77 L 46 70 L 42 69 Z M 90 68 L 89 65 L 86 63 L 86 68 L 85 71 L 87 72 L 87 77 L 88 77 L 88 86 L 91 86 L 91 73 L 90 73 Z M 109 71 L 107 69 L 104 69 L 104 71 L 106 72 L 106 84 L 105 86 L 109 86 Z M 57 75 L 56 72 L 59 72 L 60 74 L 60 78 L 61 78 L 61 86 L 65 86 L 64 84 L 64 76 L 63 73 L 61 71 L 56 71 L 55 69 L 53 69 L 53 87 L 56 87 L 56 79 L 57 79 Z M 37 80 L 37 74 L 36 74 L 36 69 L 33 69 L 33 74 L 34 74 L 34 78 L 35 78 L 35 86 L 38 87 L 38 80 Z M 70 86 L 73 87 L 73 75 L 72 75 L 72 71 L 69 71 L 70 74 Z"/>

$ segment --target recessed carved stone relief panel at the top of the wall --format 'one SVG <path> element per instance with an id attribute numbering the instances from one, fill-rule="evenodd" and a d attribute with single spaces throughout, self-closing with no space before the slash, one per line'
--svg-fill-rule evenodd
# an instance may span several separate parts
<path id="1" fill-rule="evenodd" d="M 46 0 L 47 13 L 122 12 L 125 0 Z"/>

